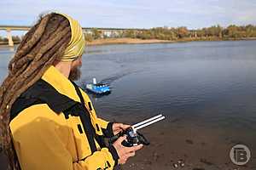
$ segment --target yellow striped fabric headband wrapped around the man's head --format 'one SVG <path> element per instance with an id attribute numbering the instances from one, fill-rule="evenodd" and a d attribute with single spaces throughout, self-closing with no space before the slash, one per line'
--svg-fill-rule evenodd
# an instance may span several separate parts
<path id="1" fill-rule="evenodd" d="M 57 13 L 60 14 L 60 13 Z M 79 25 L 77 20 L 73 20 L 67 14 L 61 14 L 66 17 L 71 27 L 71 40 L 65 49 L 65 53 L 61 57 L 61 61 L 73 61 L 84 53 L 84 33 L 82 27 Z"/>

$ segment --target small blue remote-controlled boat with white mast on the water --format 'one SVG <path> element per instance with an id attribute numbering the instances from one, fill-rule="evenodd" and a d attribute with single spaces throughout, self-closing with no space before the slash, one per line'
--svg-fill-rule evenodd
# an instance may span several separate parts
<path id="1" fill-rule="evenodd" d="M 93 78 L 92 84 L 86 84 L 86 89 L 94 94 L 110 94 L 108 84 L 96 83 L 96 78 Z"/>

